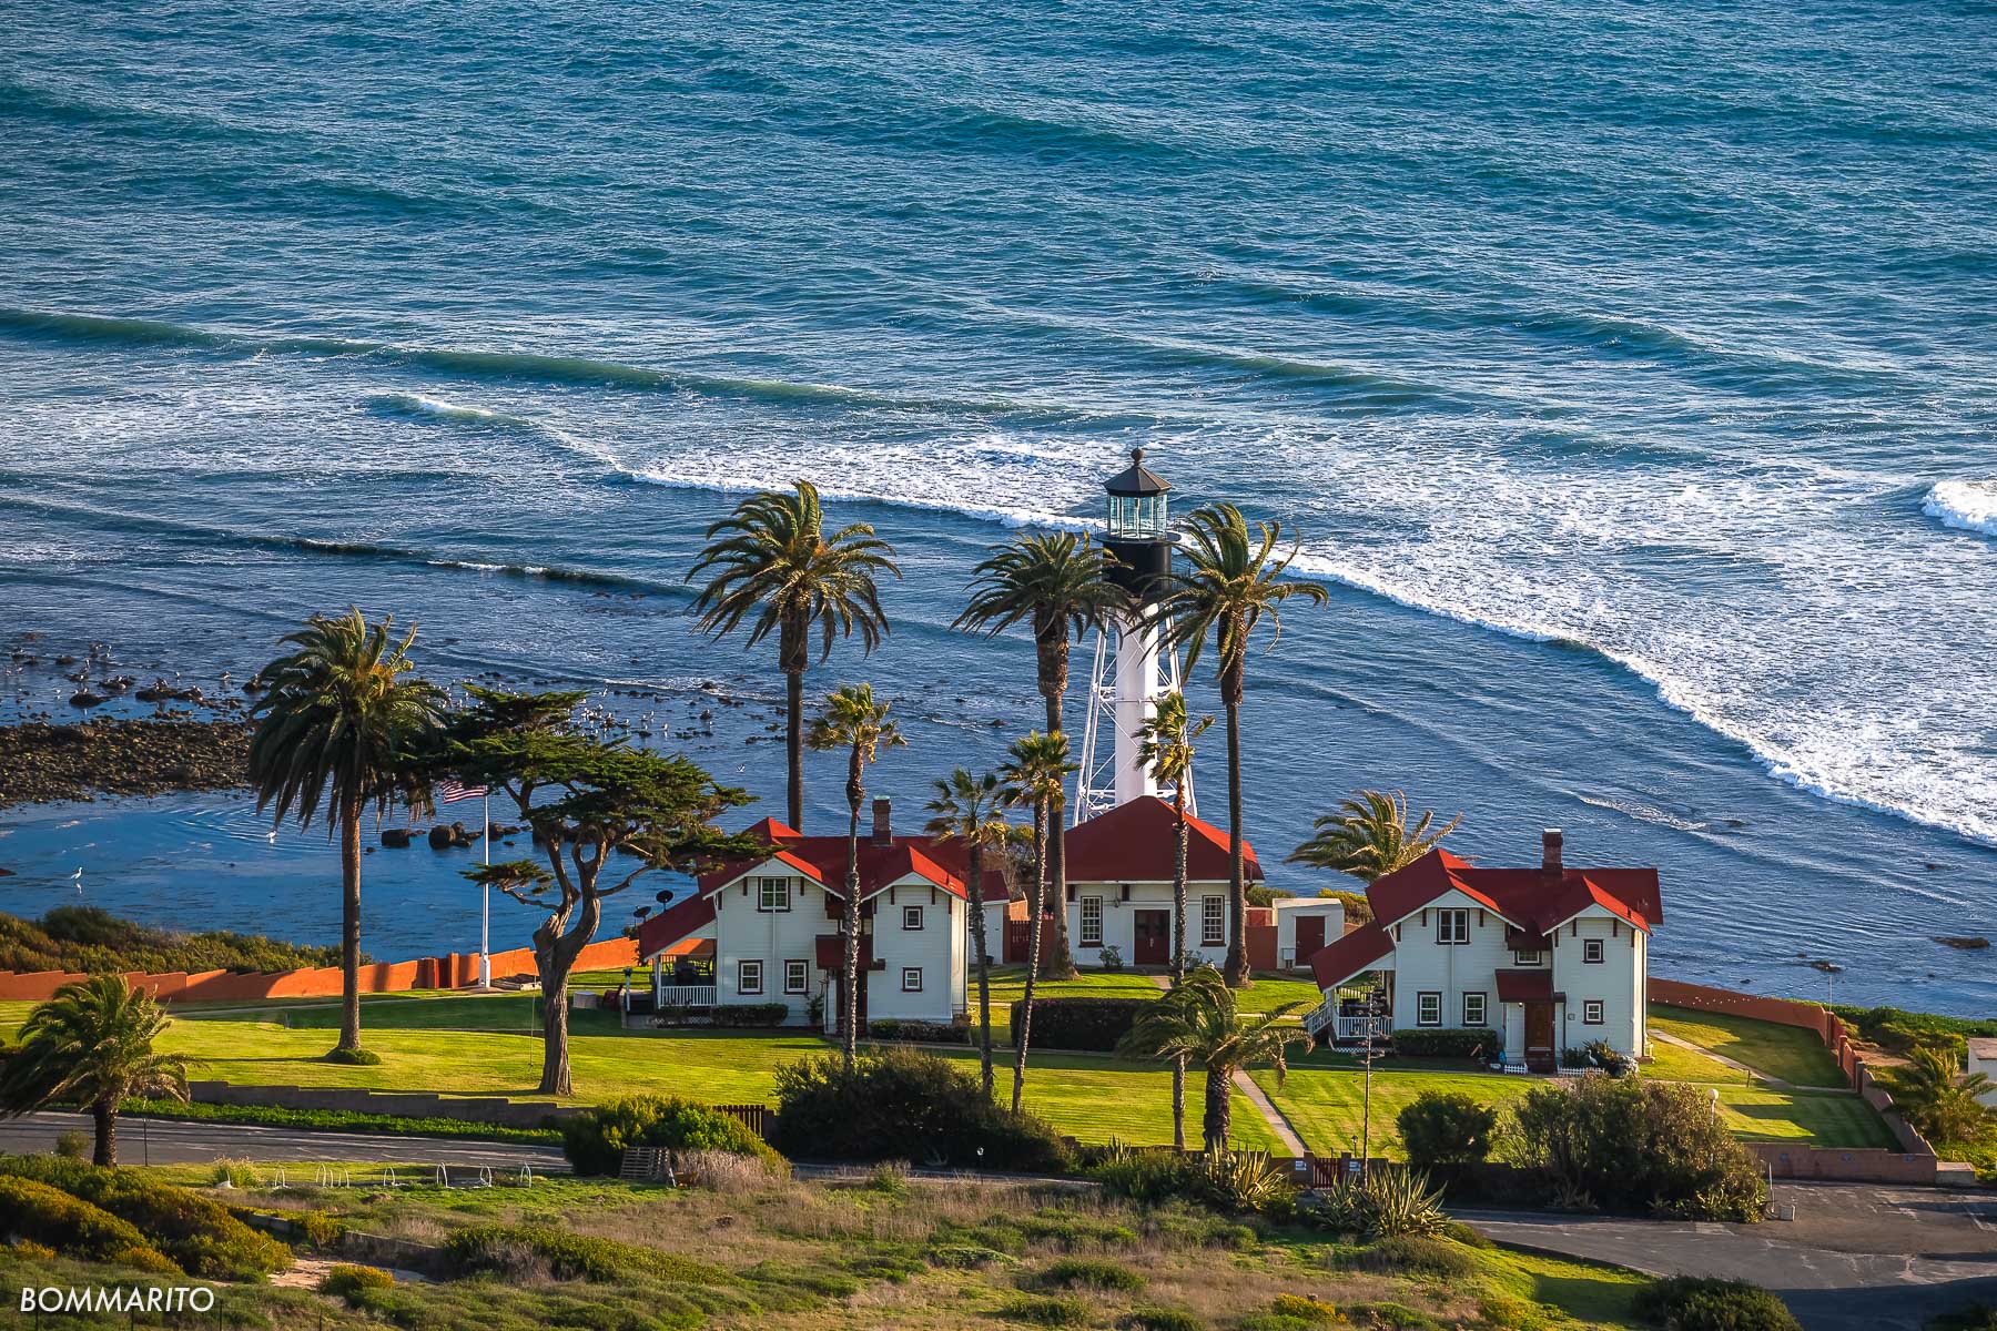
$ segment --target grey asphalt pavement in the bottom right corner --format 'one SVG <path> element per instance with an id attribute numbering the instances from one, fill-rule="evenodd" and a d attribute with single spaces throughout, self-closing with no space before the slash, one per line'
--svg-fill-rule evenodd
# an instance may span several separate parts
<path id="1" fill-rule="evenodd" d="M 1793 1221 L 1691 1221 L 1456 1211 L 1500 1243 L 1612 1261 L 1650 1275 L 1711 1275 L 1773 1289 L 1809 1331 L 1919 1331 L 1965 1303 L 1997 1303 L 1997 1193 L 1777 1183 Z"/>

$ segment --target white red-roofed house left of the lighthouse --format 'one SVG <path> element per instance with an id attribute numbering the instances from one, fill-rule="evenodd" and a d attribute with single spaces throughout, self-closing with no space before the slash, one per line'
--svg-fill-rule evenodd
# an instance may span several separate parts
<path id="1" fill-rule="evenodd" d="M 969 904 L 963 856 L 929 836 L 895 836 L 887 800 L 861 832 L 861 1022 L 951 1022 L 965 1010 Z M 639 926 L 661 1006 L 785 1004 L 787 1024 L 839 1026 L 847 838 L 805 836 L 775 818 L 749 828 L 769 854 L 703 874 L 683 902 Z M 1000 888 L 1002 890 L 1002 888 Z M 673 984 L 663 960 L 711 938 L 711 984 Z"/>

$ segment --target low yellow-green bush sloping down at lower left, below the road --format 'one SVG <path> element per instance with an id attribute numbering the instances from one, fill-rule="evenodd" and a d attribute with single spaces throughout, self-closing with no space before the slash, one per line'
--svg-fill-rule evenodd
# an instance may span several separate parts
<path id="1" fill-rule="evenodd" d="M 138 1173 L 66 1159 L 10 1155 L 0 1173 L 30 1177 L 116 1215 L 188 1275 L 258 1279 L 292 1265 L 292 1249 L 230 1215 L 222 1203 Z"/>

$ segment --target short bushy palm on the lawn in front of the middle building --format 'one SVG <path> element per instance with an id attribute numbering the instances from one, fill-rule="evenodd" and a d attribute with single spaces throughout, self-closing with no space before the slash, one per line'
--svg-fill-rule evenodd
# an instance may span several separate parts
<path id="1" fill-rule="evenodd" d="M 1224 1151 L 1234 1117 L 1234 1074 L 1268 1064 L 1282 1082 L 1290 1072 L 1284 1048 L 1304 1038 L 1300 1026 L 1284 1026 L 1282 1020 L 1302 1006 L 1282 1004 L 1244 1022 L 1220 972 L 1200 966 L 1144 1008 L 1144 1016 L 1116 1044 L 1116 1054 L 1200 1064 L 1206 1070 L 1206 1115 L 1200 1127 L 1206 1149 Z"/>

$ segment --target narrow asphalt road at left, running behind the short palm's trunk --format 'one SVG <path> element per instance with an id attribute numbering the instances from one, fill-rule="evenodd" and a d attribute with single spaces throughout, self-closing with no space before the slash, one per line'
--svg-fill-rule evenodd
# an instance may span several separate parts
<path id="1" fill-rule="evenodd" d="M 52 1151 L 56 1135 L 90 1135 L 84 1113 L 28 1113 L 0 1119 L 0 1149 Z M 477 1137 L 415 1137 L 371 1131 L 312 1131 L 306 1127 L 256 1127 L 250 1123 L 180 1123 L 174 1119 L 120 1117 L 118 1161 L 126 1165 L 182 1165 L 214 1159 L 272 1163 L 383 1163 L 519 1169 L 567 1173 L 569 1161 L 555 1145 L 479 1141 Z"/>

